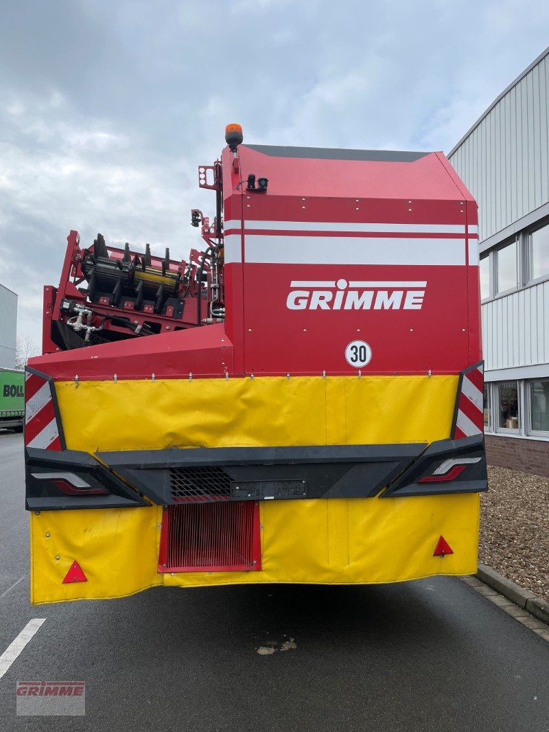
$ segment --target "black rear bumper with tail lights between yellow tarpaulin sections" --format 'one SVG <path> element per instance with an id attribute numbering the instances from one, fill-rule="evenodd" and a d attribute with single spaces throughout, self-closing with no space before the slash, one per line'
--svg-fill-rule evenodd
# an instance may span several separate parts
<path id="1" fill-rule="evenodd" d="M 29 449 L 26 477 L 26 507 L 31 510 L 400 498 L 488 488 L 482 435 L 430 445 L 169 449 L 95 456 Z"/>

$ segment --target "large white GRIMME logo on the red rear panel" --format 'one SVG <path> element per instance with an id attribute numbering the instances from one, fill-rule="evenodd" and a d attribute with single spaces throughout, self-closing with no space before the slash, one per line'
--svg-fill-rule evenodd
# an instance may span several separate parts
<path id="1" fill-rule="evenodd" d="M 421 310 L 426 282 L 294 280 L 288 310 Z"/>

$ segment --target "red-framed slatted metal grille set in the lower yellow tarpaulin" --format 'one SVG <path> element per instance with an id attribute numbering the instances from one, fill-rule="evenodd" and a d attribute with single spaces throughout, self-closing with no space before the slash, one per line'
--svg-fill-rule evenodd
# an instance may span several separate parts
<path id="1" fill-rule="evenodd" d="M 257 569 L 261 569 L 258 503 L 185 503 L 164 510 L 159 572 Z"/>

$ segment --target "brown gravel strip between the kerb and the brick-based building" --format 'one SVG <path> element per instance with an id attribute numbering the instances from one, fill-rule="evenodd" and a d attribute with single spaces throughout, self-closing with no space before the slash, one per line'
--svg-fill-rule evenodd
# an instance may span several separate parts
<path id="1" fill-rule="evenodd" d="M 549 600 L 549 479 L 488 468 L 479 561 Z"/>

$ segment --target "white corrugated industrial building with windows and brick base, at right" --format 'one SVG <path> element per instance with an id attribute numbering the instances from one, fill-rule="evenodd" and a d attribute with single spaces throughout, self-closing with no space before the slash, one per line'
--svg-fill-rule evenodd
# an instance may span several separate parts
<path id="1" fill-rule="evenodd" d="M 448 157 L 479 204 L 488 462 L 549 477 L 549 48 Z"/>

